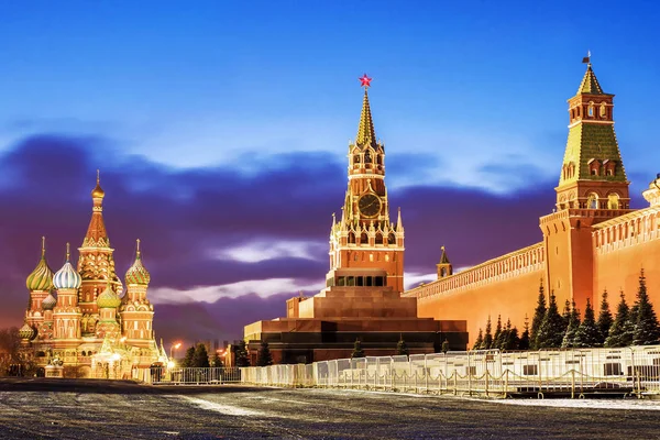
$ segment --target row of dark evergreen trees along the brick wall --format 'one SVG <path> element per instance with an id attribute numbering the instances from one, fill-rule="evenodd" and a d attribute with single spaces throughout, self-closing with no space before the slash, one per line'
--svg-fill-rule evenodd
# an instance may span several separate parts
<path id="1" fill-rule="evenodd" d="M 644 270 L 639 275 L 639 288 L 632 307 L 628 307 L 624 293 L 617 307 L 616 318 L 609 311 L 607 290 L 603 293 L 601 311 L 596 319 L 591 301 L 586 300 L 584 317 L 581 319 L 575 301 L 565 301 L 560 315 L 554 293 L 550 292 L 548 302 L 541 283 L 539 297 L 531 320 L 531 329 L 525 320 L 525 330 L 518 338 L 518 330 L 507 320 L 502 326 L 497 317 L 495 333 L 492 333 L 491 317 L 486 331 L 479 330 L 473 350 L 540 350 L 559 348 L 596 348 L 650 345 L 660 342 L 658 317 L 649 301 Z"/>

